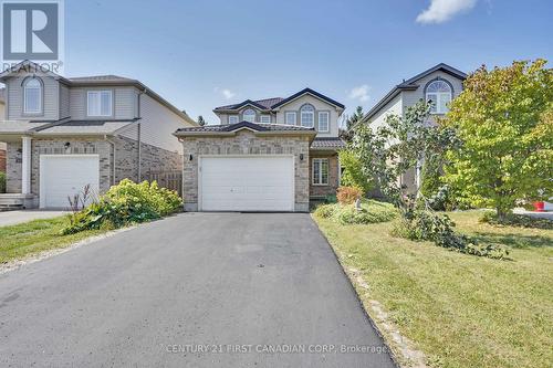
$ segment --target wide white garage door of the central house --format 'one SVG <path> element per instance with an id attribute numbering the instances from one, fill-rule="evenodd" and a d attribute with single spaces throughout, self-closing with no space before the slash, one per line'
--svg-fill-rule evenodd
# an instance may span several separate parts
<path id="1" fill-rule="evenodd" d="M 293 211 L 293 156 L 200 157 L 201 211 Z"/>

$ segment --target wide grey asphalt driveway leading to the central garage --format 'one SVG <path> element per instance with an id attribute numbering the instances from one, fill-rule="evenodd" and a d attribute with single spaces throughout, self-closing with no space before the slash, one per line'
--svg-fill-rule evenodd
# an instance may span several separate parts
<path id="1" fill-rule="evenodd" d="M 394 367 L 383 350 L 309 214 L 185 213 L 0 275 L 0 366 Z"/>

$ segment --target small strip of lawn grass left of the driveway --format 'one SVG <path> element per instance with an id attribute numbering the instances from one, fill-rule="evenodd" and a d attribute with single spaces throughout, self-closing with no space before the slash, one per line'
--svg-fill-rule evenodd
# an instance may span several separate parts
<path id="1" fill-rule="evenodd" d="M 48 220 L 35 220 L 0 228 L 0 263 L 20 260 L 43 251 L 71 245 L 104 230 L 88 230 L 71 235 L 60 232 L 70 223 L 67 215 Z"/>

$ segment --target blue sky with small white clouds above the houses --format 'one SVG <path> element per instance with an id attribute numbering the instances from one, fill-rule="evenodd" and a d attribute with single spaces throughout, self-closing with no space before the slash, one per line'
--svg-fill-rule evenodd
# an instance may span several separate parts
<path id="1" fill-rule="evenodd" d="M 305 86 L 366 111 L 440 62 L 551 60 L 551 14 L 547 0 L 65 0 L 65 75 L 138 78 L 209 123 Z"/>

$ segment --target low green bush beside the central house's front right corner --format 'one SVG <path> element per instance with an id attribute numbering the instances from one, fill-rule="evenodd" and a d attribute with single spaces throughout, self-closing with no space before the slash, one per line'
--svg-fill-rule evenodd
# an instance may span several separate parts
<path id="1" fill-rule="evenodd" d="M 314 214 L 348 225 L 390 221 L 397 217 L 397 210 L 389 203 L 363 200 L 361 210 L 357 210 L 354 204 L 323 204 L 317 207 Z"/>

